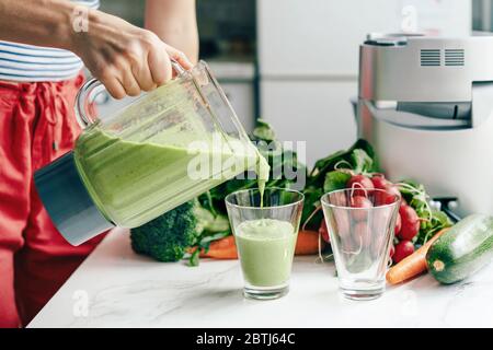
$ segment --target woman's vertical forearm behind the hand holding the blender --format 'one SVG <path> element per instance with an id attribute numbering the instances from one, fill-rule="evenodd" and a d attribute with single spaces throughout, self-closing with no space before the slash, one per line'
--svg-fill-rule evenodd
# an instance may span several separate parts
<path id="1" fill-rule="evenodd" d="M 195 0 L 147 0 L 146 28 L 182 50 L 191 61 L 198 60 Z"/>

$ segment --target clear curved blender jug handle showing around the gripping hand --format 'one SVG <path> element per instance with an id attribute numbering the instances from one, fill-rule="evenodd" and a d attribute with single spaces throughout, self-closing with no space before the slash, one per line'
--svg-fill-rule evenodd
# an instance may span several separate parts
<path id="1" fill-rule="evenodd" d="M 173 58 L 171 67 L 177 77 L 184 74 L 186 70 Z M 76 119 L 82 129 L 93 125 L 98 117 L 95 116 L 94 102 L 96 96 L 106 91 L 104 85 L 98 79 L 91 79 L 80 88 L 76 96 Z"/>

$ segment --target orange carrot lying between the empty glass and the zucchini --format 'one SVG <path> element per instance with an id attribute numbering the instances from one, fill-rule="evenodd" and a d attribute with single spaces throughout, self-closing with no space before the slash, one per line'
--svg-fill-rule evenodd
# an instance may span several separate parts
<path id="1" fill-rule="evenodd" d="M 397 284 L 426 271 L 426 253 L 433 242 L 435 242 L 449 229 L 450 228 L 440 230 L 416 252 L 402 259 L 398 265 L 391 267 L 389 271 L 387 271 L 387 282 L 390 284 Z"/>

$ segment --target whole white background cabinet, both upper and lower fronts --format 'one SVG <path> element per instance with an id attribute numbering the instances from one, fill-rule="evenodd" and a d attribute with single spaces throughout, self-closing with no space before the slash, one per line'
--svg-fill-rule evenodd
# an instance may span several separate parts
<path id="1" fill-rule="evenodd" d="M 261 116 L 306 140 L 308 165 L 356 139 L 359 45 L 368 33 L 471 31 L 468 0 L 257 0 Z"/>

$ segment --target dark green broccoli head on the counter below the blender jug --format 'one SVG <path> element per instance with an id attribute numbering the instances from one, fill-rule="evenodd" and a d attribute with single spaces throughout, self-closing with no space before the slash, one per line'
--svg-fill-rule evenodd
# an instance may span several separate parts
<path id="1" fill-rule="evenodd" d="M 133 249 L 159 261 L 177 261 L 202 233 L 195 215 L 195 201 L 188 201 L 154 220 L 130 230 Z"/>

